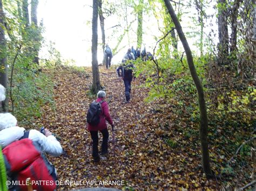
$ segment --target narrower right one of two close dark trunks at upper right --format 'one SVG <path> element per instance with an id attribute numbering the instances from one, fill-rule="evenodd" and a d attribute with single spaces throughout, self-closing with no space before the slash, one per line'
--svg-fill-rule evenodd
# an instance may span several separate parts
<path id="1" fill-rule="evenodd" d="M 235 0 L 234 5 L 231 10 L 231 38 L 230 38 L 230 54 L 232 59 L 237 58 L 237 17 L 238 9 L 240 6 L 241 0 Z"/>

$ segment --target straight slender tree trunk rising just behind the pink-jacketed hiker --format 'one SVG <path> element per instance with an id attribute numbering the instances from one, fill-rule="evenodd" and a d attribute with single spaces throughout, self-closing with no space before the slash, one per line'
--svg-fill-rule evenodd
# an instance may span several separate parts
<path id="1" fill-rule="evenodd" d="M 97 60 L 98 46 L 98 0 L 93 0 L 92 11 L 92 88 L 93 94 L 97 94 L 101 89 L 99 80 L 99 66 Z"/>

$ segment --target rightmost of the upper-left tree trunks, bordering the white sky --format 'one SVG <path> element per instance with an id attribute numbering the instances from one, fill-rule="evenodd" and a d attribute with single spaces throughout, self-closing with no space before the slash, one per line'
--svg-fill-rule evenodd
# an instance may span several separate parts
<path id="1" fill-rule="evenodd" d="M 36 34 L 39 34 L 39 29 L 38 29 L 38 23 L 37 23 L 37 6 L 38 6 L 38 0 L 31 0 L 31 24 L 35 26 L 36 28 Z M 39 37 L 35 37 L 34 40 L 36 41 L 36 47 L 35 47 L 35 58 L 33 60 L 34 63 L 36 63 L 39 66 L 39 49 L 40 49 L 40 45 L 39 45 Z M 41 69 L 39 69 L 41 70 Z"/>

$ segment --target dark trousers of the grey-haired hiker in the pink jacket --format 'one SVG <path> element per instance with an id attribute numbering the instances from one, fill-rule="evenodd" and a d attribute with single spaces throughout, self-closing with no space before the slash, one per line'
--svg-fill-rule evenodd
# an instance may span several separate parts
<path id="1" fill-rule="evenodd" d="M 109 140 L 109 131 L 106 129 L 103 129 L 100 131 L 103 135 L 103 141 L 102 141 L 102 153 L 107 153 L 107 142 Z M 92 157 L 94 160 L 99 160 L 99 151 L 98 151 L 98 144 L 99 144 L 99 138 L 98 138 L 98 131 L 90 131 L 91 138 L 92 138 Z"/>

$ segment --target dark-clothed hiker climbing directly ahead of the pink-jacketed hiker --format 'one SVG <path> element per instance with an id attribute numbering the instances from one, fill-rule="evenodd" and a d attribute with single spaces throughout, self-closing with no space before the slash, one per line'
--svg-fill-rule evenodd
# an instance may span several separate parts
<path id="1" fill-rule="evenodd" d="M 117 75 L 119 79 L 123 79 L 124 86 L 125 86 L 125 103 L 129 103 L 130 101 L 130 93 L 131 93 L 131 82 L 132 78 L 135 79 L 135 76 L 133 76 L 133 68 L 134 65 L 127 56 L 122 60 L 122 65 L 117 68 Z M 121 73 L 120 73 L 121 71 Z"/>

